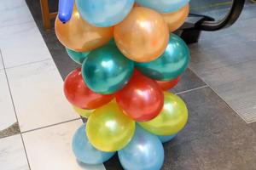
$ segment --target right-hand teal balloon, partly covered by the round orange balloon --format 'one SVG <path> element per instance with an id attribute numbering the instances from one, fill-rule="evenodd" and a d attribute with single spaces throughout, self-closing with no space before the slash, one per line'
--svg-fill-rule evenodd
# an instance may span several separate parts
<path id="1" fill-rule="evenodd" d="M 164 54 L 147 63 L 136 63 L 138 71 L 159 81 L 168 81 L 180 76 L 189 65 L 189 48 L 183 40 L 172 34 Z"/>

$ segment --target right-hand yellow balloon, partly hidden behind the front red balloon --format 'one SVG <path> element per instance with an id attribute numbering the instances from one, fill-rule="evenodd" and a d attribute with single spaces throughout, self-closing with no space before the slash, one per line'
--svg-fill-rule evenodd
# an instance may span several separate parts
<path id="1" fill-rule="evenodd" d="M 177 95 L 165 92 L 164 107 L 159 116 L 139 124 L 156 135 L 172 135 L 183 129 L 188 121 L 188 109 Z"/>

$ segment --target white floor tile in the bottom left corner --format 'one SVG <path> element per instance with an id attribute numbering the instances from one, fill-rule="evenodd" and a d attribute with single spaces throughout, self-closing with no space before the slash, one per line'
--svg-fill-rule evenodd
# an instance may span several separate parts
<path id="1" fill-rule="evenodd" d="M 20 134 L 0 139 L 2 170 L 29 170 Z"/>

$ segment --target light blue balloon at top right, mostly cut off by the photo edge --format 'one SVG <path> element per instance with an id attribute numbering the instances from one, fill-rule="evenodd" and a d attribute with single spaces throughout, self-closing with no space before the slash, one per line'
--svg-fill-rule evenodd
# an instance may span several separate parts
<path id="1" fill-rule="evenodd" d="M 183 8 L 189 0 L 136 0 L 140 6 L 153 8 L 160 13 L 172 13 Z"/>

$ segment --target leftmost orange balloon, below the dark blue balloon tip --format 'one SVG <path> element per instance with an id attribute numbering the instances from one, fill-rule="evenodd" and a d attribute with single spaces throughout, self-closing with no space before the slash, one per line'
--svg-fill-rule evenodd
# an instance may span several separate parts
<path id="1" fill-rule="evenodd" d="M 91 26 L 80 16 L 78 9 L 73 8 L 71 20 L 62 23 L 56 17 L 55 33 L 59 41 L 67 48 L 78 52 L 99 48 L 113 37 L 113 27 L 100 28 Z"/>

